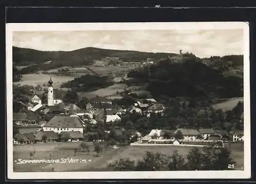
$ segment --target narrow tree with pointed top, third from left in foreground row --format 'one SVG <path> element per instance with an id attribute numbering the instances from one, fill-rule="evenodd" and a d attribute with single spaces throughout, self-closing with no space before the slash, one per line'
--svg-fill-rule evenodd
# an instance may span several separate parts
<path id="1" fill-rule="evenodd" d="M 174 150 L 173 155 L 169 157 L 168 163 L 169 171 L 182 171 L 185 170 L 185 159 L 182 155 L 178 154 L 177 150 Z"/>

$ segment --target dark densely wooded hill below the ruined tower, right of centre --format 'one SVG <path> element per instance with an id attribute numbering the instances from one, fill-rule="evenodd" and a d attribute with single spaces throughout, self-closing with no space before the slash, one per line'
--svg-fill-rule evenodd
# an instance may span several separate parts
<path id="1" fill-rule="evenodd" d="M 149 83 L 147 90 L 153 96 L 243 96 L 243 78 L 224 76 L 220 70 L 208 67 L 195 58 L 186 58 L 183 62 L 161 61 L 150 68 L 131 71 L 128 76 Z"/>

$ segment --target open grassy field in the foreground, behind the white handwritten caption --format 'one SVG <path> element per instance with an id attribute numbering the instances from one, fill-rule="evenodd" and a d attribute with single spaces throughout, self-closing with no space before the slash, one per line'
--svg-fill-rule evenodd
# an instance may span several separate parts
<path id="1" fill-rule="evenodd" d="M 89 154 L 79 150 L 74 155 L 74 149 L 79 147 L 79 142 L 58 142 L 58 143 L 38 143 L 33 145 L 16 145 L 13 146 L 13 169 L 14 172 L 49 172 L 49 171 L 107 171 L 106 166 L 116 159 L 142 159 L 145 151 L 161 152 L 162 154 L 171 155 L 175 149 L 179 154 L 186 155 L 191 147 L 178 146 L 125 146 L 120 148 L 109 148 L 96 156 L 92 142 L 87 142 L 90 146 Z M 229 147 L 229 146 L 228 146 Z M 199 148 L 202 149 L 202 148 Z M 243 167 L 243 144 L 233 143 L 230 145 L 234 161 L 237 162 L 236 168 Z M 35 150 L 32 160 L 40 159 L 78 159 L 77 163 L 27 163 L 17 164 L 18 159 L 29 160 L 30 152 Z M 87 163 L 80 162 L 86 160 Z M 91 161 L 89 161 L 91 160 Z M 15 162 L 16 161 L 16 162 Z"/>

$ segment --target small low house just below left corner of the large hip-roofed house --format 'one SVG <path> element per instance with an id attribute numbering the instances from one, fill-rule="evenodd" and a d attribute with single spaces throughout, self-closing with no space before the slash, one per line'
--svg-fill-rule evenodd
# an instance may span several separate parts
<path id="1" fill-rule="evenodd" d="M 36 142 L 56 142 L 59 141 L 59 136 L 53 130 L 50 131 L 38 131 L 35 133 Z"/>

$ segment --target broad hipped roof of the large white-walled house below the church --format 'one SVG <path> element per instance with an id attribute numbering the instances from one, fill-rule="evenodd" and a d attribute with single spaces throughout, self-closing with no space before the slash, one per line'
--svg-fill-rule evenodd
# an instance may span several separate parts
<path id="1" fill-rule="evenodd" d="M 81 121 L 75 116 L 54 116 L 45 127 L 77 127 L 82 128 Z"/>

